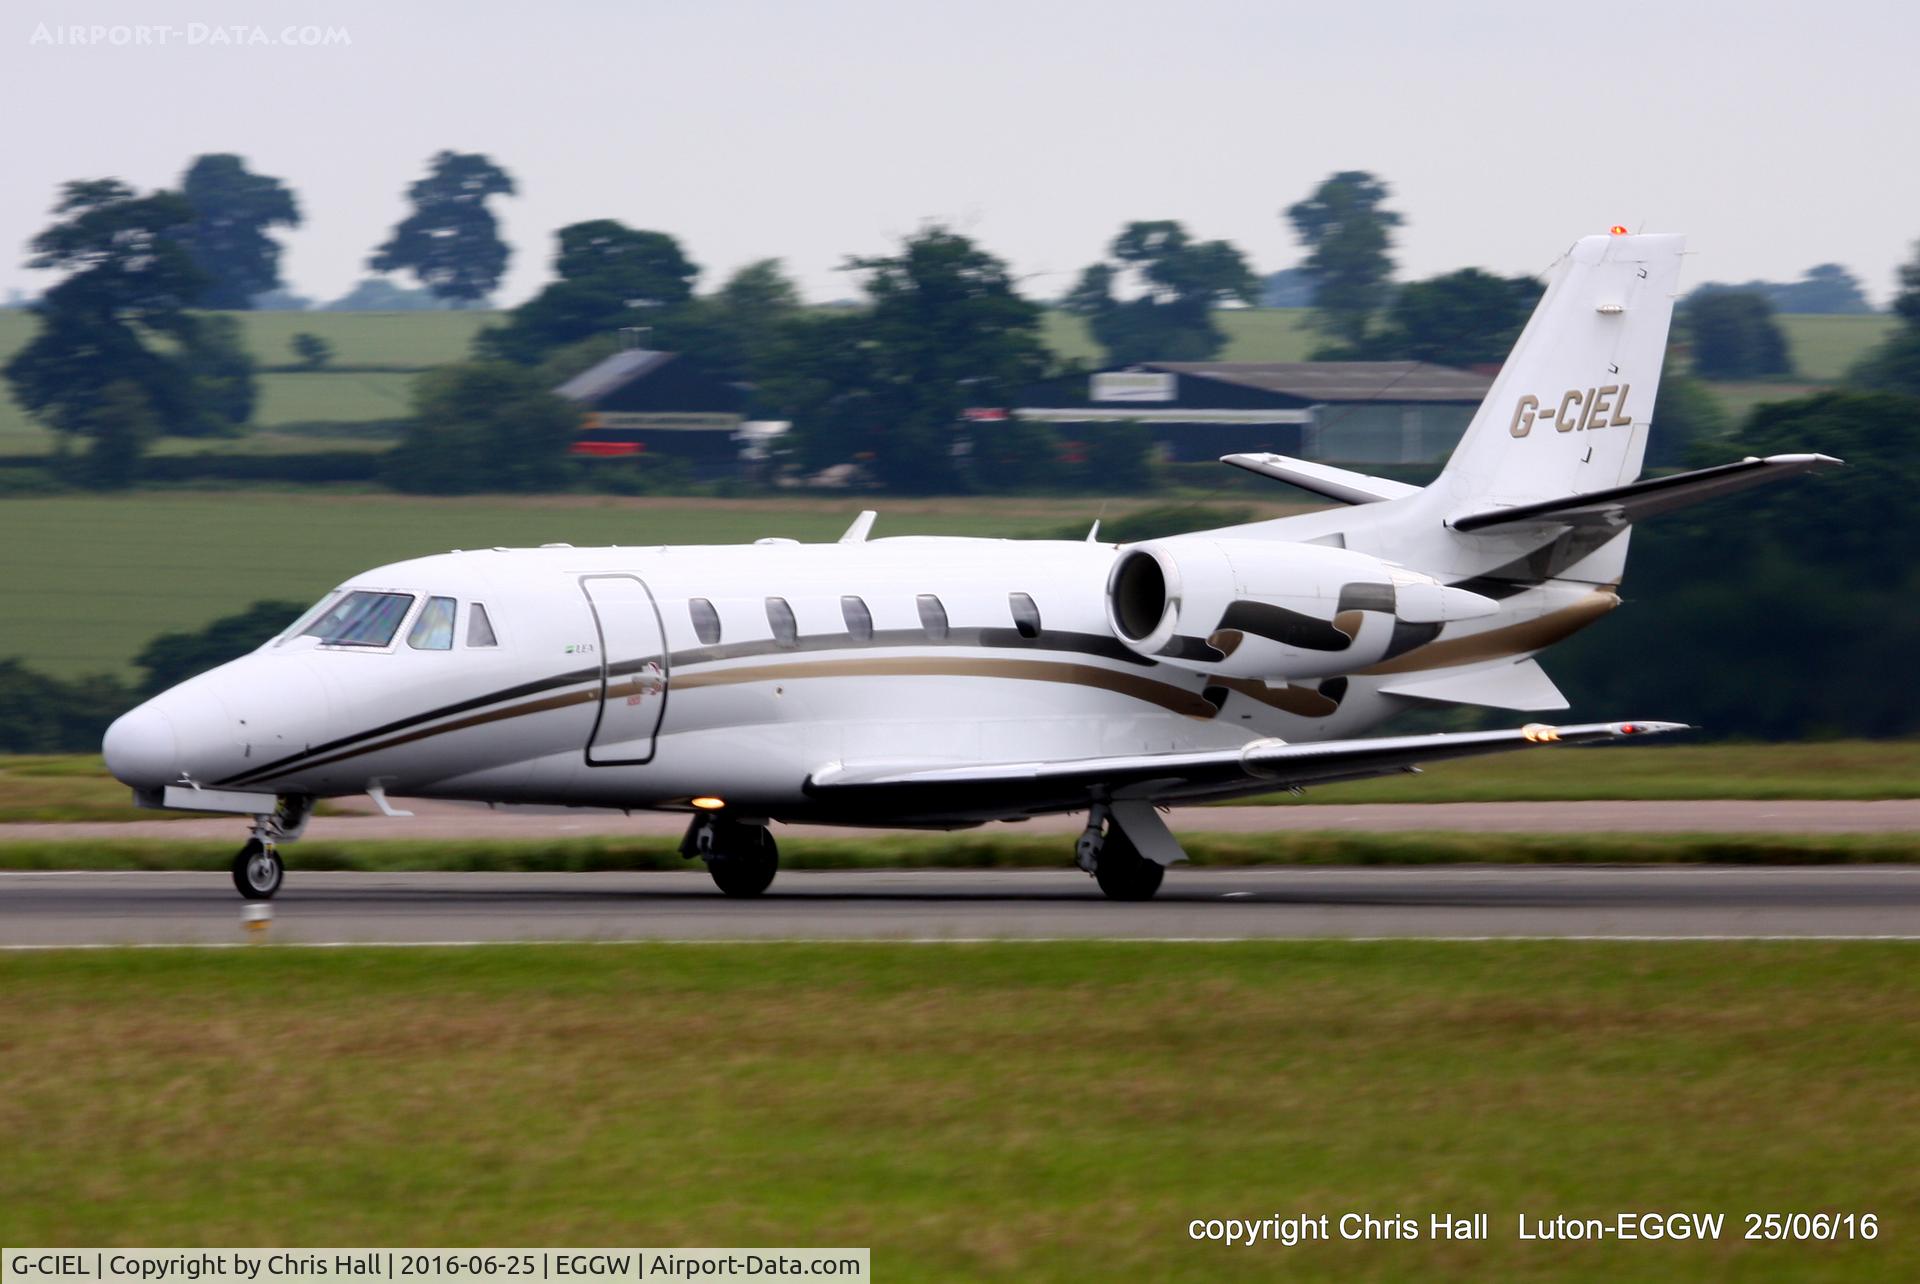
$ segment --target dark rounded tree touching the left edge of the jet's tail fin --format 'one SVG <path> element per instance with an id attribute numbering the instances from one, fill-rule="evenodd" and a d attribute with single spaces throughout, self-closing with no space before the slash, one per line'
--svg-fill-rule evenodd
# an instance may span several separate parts
<path id="1" fill-rule="evenodd" d="M 1394 294 L 1386 322 L 1363 342 L 1363 353 L 1450 367 L 1505 361 L 1542 292 L 1532 276 L 1494 276 L 1476 267 L 1415 280 Z"/>

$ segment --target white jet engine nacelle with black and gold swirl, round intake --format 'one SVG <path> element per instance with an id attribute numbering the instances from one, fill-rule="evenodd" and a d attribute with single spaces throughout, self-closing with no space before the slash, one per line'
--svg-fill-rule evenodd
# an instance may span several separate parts
<path id="1" fill-rule="evenodd" d="M 1142 656 L 1223 678 L 1331 678 L 1411 651 L 1500 605 L 1350 549 L 1265 539 L 1137 543 L 1106 616 Z"/>

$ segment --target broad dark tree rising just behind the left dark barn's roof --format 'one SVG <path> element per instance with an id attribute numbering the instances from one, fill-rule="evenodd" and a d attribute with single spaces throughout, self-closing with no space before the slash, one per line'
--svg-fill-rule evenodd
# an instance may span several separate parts
<path id="1" fill-rule="evenodd" d="M 505 324 L 482 332 L 476 340 L 482 355 L 532 365 L 595 334 L 655 326 L 693 297 L 701 269 L 666 232 L 593 219 L 563 226 L 559 240 L 553 259 L 559 280 L 507 313 Z"/>

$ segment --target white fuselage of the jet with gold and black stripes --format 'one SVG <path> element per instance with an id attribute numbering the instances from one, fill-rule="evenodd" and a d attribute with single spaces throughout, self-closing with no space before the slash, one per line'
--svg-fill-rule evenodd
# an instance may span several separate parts
<path id="1" fill-rule="evenodd" d="M 674 810 L 716 797 L 735 814 L 803 820 L 816 812 L 808 775 L 831 764 L 1223 749 L 1354 735 L 1392 712 L 1363 679 L 1300 716 L 1258 699 L 1260 683 L 1227 693 L 1129 653 L 1108 626 L 1114 557 L 1098 543 L 900 537 L 396 562 L 342 585 L 413 597 L 390 643 L 290 631 L 129 716 L 117 770 L 146 787 L 313 797 L 372 787 Z M 1031 637 L 1016 593 L 1039 612 Z M 445 651 L 407 641 L 430 597 L 459 603 Z M 695 599 L 718 639 L 697 633 Z M 768 599 L 791 610 L 791 635 L 776 635 Z M 474 603 L 497 645 L 468 645 Z"/>

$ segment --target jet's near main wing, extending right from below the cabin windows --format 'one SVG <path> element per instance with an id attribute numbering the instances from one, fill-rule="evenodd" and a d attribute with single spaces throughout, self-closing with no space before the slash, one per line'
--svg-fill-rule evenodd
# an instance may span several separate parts
<path id="1" fill-rule="evenodd" d="M 1066 762 L 920 768 L 833 764 L 814 772 L 806 791 L 824 804 L 858 804 L 876 812 L 960 816 L 1073 810 L 1100 798 L 1181 800 L 1323 785 L 1392 775 L 1446 758 L 1540 745 L 1596 745 L 1684 729 L 1688 727 L 1680 722 L 1588 722 L 1563 727 L 1530 724 L 1507 731 L 1388 735 L 1306 745 L 1261 739 L 1238 749 Z"/>

